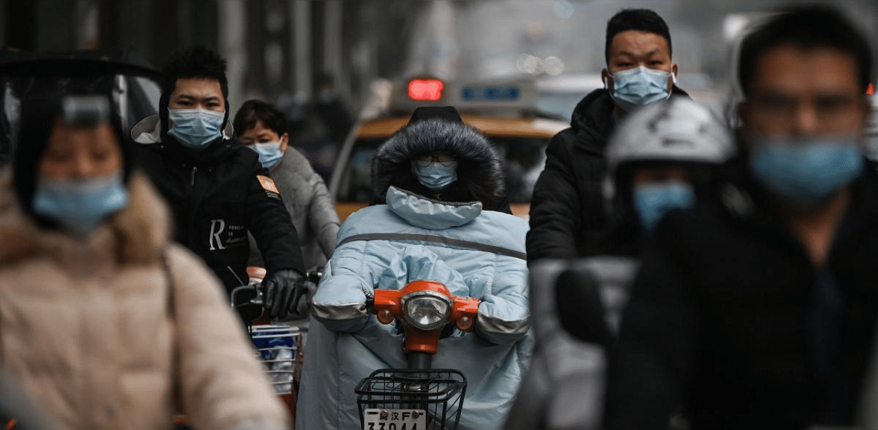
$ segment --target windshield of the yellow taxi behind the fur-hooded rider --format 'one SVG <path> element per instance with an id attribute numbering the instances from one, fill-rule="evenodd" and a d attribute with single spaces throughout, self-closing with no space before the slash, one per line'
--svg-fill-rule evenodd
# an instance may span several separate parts
<path id="1" fill-rule="evenodd" d="M 506 192 L 510 203 L 528 203 L 536 178 L 543 171 L 548 138 L 488 137 L 503 160 Z M 343 170 L 337 201 L 368 203 L 372 200 L 371 160 L 386 138 L 362 138 L 354 142 Z"/>

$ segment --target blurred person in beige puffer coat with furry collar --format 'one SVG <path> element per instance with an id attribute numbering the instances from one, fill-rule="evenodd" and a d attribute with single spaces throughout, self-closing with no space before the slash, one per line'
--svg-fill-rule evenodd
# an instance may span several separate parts
<path id="1" fill-rule="evenodd" d="M 25 101 L 0 173 L 0 365 L 52 428 L 286 428 L 217 278 L 102 96 Z M 179 403 L 177 404 L 176 401 Z"/>

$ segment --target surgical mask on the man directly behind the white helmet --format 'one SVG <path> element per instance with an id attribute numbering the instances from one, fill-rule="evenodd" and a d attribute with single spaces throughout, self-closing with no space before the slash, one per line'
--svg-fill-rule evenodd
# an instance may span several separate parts
<path id="1" fill-rule="evenodd" d="M 676 79 L 672 73 L 643 66 L 610 76 L 613 78 L 613 100 L 625 111 L 668 98 L 667 80 Z"/>

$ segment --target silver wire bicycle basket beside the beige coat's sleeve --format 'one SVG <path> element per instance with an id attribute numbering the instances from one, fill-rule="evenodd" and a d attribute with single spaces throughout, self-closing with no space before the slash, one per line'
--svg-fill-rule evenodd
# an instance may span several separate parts
<path id="1" fill-rule="evenodd" d="M 284 325 L 251 326 L 250 337 L 275 393 L 290 394 L 295 379 L 296 354 L 302 341 L 299 328 Z"/>

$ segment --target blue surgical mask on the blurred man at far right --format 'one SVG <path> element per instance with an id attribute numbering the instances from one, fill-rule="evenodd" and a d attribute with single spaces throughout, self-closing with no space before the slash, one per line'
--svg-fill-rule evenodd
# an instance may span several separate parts
<path id="1" fill-rule="evenodd" d="M 862 171 L 863 155 L 855 137 L 757 137 L 750 155 L 753 178 L 799 207 L 824 201 Z"/>

